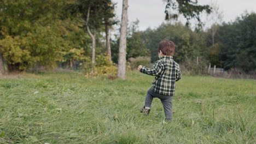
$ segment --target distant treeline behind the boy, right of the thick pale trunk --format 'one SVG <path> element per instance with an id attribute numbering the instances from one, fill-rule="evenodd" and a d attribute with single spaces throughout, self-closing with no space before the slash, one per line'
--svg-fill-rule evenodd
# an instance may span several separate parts
<path id="1" fill-rule="evenodd" d="M 158 59 L 158 43 L 170 39 L 176 44 L 174 59 L 178 63 L 195 63 L 197 57 L 204 65 L 216 65 L 225 70 L 237 69 L 245 73 L 256 72 L 256 14 L 244 13 L 232 22 L 214 25 L 205 31 L 193 31 L 181 22 L 162 23 L 158 28 L 136 30 L 137 22 L 130 26 L 127 37 L 127 58 L 150 56 Z M 212 28 L 217 31 L 212 37 Z M 214 41 L 213 41 L 214 39 Z M 118 50 L 113 42 L 113 51 Z M 117 51 L 115 51 L 117 52 Z M 116 57 L 113 57 L 116 62 Z"/>

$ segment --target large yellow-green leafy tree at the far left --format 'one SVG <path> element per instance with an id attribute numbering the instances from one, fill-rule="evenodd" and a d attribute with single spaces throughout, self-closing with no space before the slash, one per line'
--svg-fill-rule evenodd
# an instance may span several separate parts
<path id="1" fill-rule="evenodd" d="M 35 63 L 52 67 L 61 59 L 62 1 L 1 1 L 0 8 L 0 45 L 8 71 Z"/>

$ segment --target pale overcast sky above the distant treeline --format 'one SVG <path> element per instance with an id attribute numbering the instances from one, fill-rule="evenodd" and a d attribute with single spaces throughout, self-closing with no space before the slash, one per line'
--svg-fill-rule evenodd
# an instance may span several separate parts
<path id="1" fill-rule="evenodd" d="M 113 0 L 117 3 L 115 13 L 121 21 L 122 0 Z M 223 12 L 223 21 L 234 21 L 236 17 L 248 11 L 256 13 L 256 0 L 214 0 L 219 5 L 219 10 Z M 210 4 L 211 0 L 198 0 L 199 4 Z M 139 30 L 143 31 L 158 27 L 165 22 L 165 4 L 162 0 L 128 0 L 128 20 L 139 20 Z M 204 18 L 203 18 L 204 19 Z M 202 21 L 206 21 L 203 20 Z M 182 19 L 181 19 L 182 20 Z M 182 20 L 184 21 L 184 20 Z M 206 21 L 207 26 L 207 21 Z"/>

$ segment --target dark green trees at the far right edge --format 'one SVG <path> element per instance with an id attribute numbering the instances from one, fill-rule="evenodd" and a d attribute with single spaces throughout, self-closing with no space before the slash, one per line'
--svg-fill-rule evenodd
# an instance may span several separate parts
<path id="1" fill-rule="evenodd" d="M 219 29 L 220 61 L 225 69 L 256 71 L 256 14 L 243 14 Z"/>

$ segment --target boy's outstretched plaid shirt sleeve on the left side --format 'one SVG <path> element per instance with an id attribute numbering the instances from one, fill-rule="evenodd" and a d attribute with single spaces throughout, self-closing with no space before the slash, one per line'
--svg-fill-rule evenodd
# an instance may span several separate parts
<path id="1" fill-rule="evenodd" d="M 158 75 L 158 74 L 161 73 L 162 68 L 163 67 L 162 67 L 161 62 L 160 61 L 156 61 L 152 68 L 147 68 L 147 67 L 142 66 L 141 73 L 155 76 L 155 75 Z"/>

